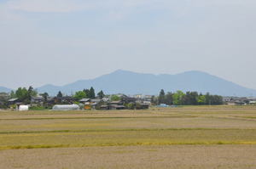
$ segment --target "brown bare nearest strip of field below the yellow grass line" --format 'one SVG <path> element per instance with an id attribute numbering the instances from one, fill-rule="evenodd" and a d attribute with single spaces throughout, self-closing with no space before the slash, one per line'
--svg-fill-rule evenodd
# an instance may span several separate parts
<path id="1" fill-rule="evenodd" d="M 255 152 L 253 145 L 12 149 L 0 152 L 0 168 L 255 169 Z"/>

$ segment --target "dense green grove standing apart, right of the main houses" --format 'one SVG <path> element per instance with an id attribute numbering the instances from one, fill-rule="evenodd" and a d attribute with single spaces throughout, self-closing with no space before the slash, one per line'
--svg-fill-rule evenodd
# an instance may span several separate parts
<path id="1" fill-rule="evenodd" d="M 223 104 L 223 98 L 218 95 L 211 95 L 210 93 L 183 93 L 182 91 L 177 91 L 176 93 L 165 93 L 165 91 L 162 89 L 158 97 L 152 98 L 152 103 L 168 105 L 218 105 Z"/>

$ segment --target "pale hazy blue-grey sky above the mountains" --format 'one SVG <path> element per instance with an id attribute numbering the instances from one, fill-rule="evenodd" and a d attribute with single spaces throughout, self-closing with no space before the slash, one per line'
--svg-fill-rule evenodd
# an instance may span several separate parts
<path id="1" fill-rule="evenodd" d="M 202 70 L 256 89 L 255 0 L 0 0 L 0 86 L 117 69 Z"/>

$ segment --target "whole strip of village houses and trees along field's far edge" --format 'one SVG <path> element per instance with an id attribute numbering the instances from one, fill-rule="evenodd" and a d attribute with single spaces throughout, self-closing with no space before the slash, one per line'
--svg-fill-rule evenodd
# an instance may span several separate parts
<path id="1" fill-rule="evenodd" d="M 256 105 L 256 98 L 222 97 L 197 92 L 177 91 L 159 95 L 125 95 L 123 93 L 107 95 L 95 93 L 93 87 L 78 91 L 72 96 L 61 93 L 49 96 L 38 93 L 33 87 L 20 87 L 11 93 L 0 93 L 2 110 L 147 110 L 150 106 L 169 107 L 177 105 Z"/>

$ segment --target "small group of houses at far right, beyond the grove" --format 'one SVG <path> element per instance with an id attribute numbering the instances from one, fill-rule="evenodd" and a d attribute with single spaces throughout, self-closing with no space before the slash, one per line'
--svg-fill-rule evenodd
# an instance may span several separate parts
<path id="1" fill-rule="evenodd" d="M 246 97 L 224 97 L 224 104 L 228 105 L 255 105 L 256 98 L 246 98 Z"/>

